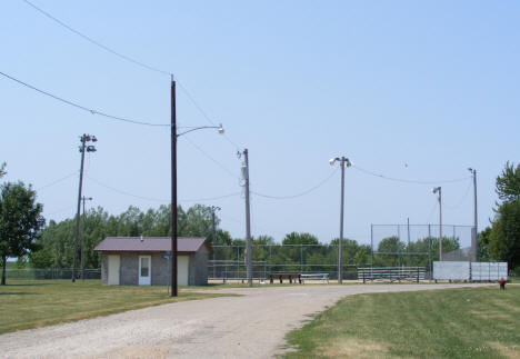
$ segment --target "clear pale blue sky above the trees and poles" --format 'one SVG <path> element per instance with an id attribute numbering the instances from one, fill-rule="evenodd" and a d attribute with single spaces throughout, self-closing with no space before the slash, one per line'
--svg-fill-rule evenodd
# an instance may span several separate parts
<path id="1" fill-rule="evenodd" d="M 520 149 L 520 4 L 516 1 L 43 1 L 34 4 L 97 41 L 171 71 L 231 141 L 250 151 L 251 190 L 290 196 L 330 176 L 329 158 L 389 177 L 441 180 L 443 221 L 472 223 L 468 167 L 478 170 L 480 228 L 494 178 Z M 0 71 L 112 114 L 169 121 L 169 77 L 126 62 L 21 0 L 0 3 Z M 209 124 L 178 89 L 178 120 Z M 111 213 L 170 198 L 167 128 L 110 121 L 0 77 L 0 160 L 7 180 L 39 189 L 79 169 L 83 132 L 98 137 L 84 195 Z M 188 138 L 189 136 L 189 138 Z M 237 148 L 213 131 L 179 139 L 179 199 L 240 192 Z M 201 153 L 192 141 L 216 159 Z M 222 169 L 226 168 L 227 170 Z M 48 219 L 74 216 L 77 177 L 38 191 Z M 252 235 L 339 232 L 339 172 L 290 200 L 252 197 Z M 432 185 L 347 170 L 346 236 L 370 223 L 437 223 Z M 469 189 L 469 190 L 468 190 Z M 221 227 L 244 236 L 240 196 Z M 183 202 L 183 206 L 191 202 Z"/>

